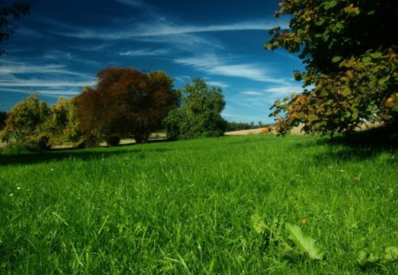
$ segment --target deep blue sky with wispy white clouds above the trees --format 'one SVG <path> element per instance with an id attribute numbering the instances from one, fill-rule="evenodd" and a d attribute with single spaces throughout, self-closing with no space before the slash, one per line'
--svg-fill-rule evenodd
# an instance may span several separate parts
<path id="1" fill-rule="evenodd" d="M 200 77 L 223 89 L 229 121 L 263 121 L 301 90 L 301 61 L 264 50 L 278 0 L 38 0 L 0 56 L 0 111 L 32 91 L 55 103 L 96 84 L 111 65 L 161 70 L 183 88 Z"/>

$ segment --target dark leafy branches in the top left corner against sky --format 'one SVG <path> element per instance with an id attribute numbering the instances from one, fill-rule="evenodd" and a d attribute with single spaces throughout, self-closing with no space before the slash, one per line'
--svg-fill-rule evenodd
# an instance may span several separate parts
<path id="1" fill-rule="evenodd" d="M 11 37 L 16 28 L 15 21 L 26 15 L 30 8 L 31 4 L 27 2 L 19 1 L 13 4 L 4 4 L 4 1 L 0 0 L 0 42 L 4 42 Z M 0 55 L 4 53 L 5 51 L 0 49 Z"/>

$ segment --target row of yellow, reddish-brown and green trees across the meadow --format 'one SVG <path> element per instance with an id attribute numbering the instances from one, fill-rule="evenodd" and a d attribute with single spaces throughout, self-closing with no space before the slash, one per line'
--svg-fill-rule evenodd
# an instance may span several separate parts
<path id="1" fill-rule="evenodd" d="M 173 88 L 165 72 L 142 73 L 109 67 L 97 73 L 95 87 L 85 87 L 71 99 L 49 106 L 36 93 L 2 116 L 3 141 L 47 149 L 60 144 L 93 146 L 119 144 L 133 137 L 138 143 L 165 129 L 169 140 L 220 136 L 225 100 L 221 88 L 195 79 L 182 90 Z M 1 120 L 1 119 L 0 119 Z"/>

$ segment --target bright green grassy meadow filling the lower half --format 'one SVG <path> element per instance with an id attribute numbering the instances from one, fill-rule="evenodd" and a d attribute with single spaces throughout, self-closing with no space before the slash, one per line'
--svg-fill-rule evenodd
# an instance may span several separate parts
<path id="1" fill-rule="evenodd" d="M 396 149 L 241 136 L 3 154 L 0 165 L 5 273 L 398 270 L 357 262 L 398 245 Z M 325 257 L 287 257 L 287 223 Z"/>

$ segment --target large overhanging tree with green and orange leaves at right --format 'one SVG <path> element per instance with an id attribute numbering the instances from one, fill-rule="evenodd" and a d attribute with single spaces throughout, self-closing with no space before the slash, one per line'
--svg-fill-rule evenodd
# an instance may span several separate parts
<path id="1" fill-rule="evenodd" d="M 305 72 L 295 72 L 303 92 L 276 101 L 280 134 L 300 123 L 306 133 L 353 131 L 367 121 L 398 128 L 398 1 L 286 0 L 267 49 L 300 52 Z M 390 34 L 388 34 L 390 32 Z"/>

